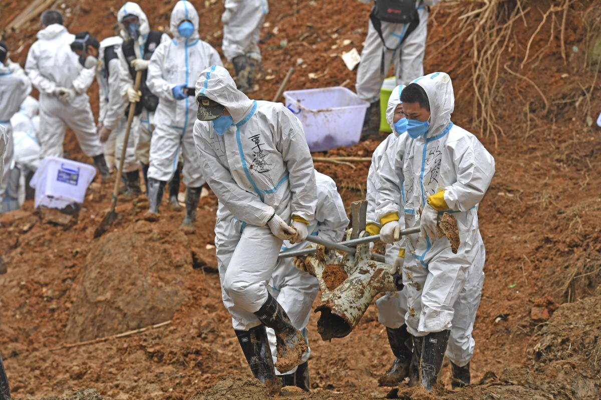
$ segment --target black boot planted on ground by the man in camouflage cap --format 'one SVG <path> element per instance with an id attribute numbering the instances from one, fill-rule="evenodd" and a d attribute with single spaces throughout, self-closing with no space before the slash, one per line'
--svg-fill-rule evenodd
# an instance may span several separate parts
<path id="1" fill-rule="evenodd" d="M 252 375 L 267 386 L 272 393 L 279 392 L 278 378 L 273 369 L 273 359 L 269 350 L 269 341 L 264 325 L 252 327 L 249 330 L 237 330 L 236 336 L 242 347 L 242 353 L 251 367 Z"/>

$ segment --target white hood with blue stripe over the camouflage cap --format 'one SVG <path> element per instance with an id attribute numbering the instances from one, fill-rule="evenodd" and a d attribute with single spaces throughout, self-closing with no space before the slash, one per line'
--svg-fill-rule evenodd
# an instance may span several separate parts
<path id="1" fill-rule="evenodd" d="M 236 124 L 252 109 L 252 100 L 236 88 L 230 73 L 219 65 L 213 65 L 200 73 L 196 81 L 195 98 L 198 99 L 200 94 L 224 106 Z"/>

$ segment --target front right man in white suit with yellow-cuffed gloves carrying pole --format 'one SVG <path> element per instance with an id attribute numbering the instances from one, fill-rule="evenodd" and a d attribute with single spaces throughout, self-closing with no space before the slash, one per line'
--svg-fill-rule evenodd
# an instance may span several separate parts
<path id="1" fill-rule="evenodd" d="M 401 101 L 410 139 L 403 157 L 397 155 L 392 165 L 382 166 L 389 171 L 377 181 L 376 213 L 382 225 L 380 238 L 388 243 L 397 240 L 402 194 L 404 226 L 421 228 L 421 234 L 404 240 L 405 321 L 419 361 L 414 371 L 419 372 L 421 384 L 432 390 L 445 351 L 453 362 L 454 378 L 469 383 L 474 352 L 471 329 L 484 260 L 477 204 L 495 173 L 495 161 L 474 135 L 451 122 L 454 94 L 448 74 L 416 79 L 403 89 Z M 401 193 L 400 178 L 391 171 L 403 172 Z M 443 212 L 457 219 L 461 244 L 455 252 L 439 234 Z M 457 338 L 449 343 L 455 332 Z"/>

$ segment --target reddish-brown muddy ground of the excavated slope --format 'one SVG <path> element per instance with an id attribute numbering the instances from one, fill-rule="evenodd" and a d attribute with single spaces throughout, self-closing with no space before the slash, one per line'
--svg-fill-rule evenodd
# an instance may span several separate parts
<path id="1" fill-rule="evenodd" d="M 425 70 L 450 74 L 457 95 L 453 121 L 477 134 L 496 161 L 495 178 L 479 209 L 487 257 L 474 329 L 475 384 L 451 392 L 445 362 L 436 396 L 601 398 L 601 130 L 593 124 L 601 111 L 601 79 L 597 64 L 590 62 L 596 59 L 591 55 L 599 54 L 600 6 L 584 0 L 500 3 L 493 15 L 497 25 L 487 26 L 485 34 L 515 18 L 489 77 L 488 87 L 496 82 L 490 109 L 502 128 L 496 138 L 481 129 L 473 112 L 481 94 L 472 83 L 478 73 L 474 66 L 486 52 L 474 54 L 478 37 L 469 34 L 475 23 L 458 18 L 483 4 L 445 3 L 433 9 L 430 19 Z M 174 4 L 151 0 L 143 7 L 151 24 L 165 29 Z M 219 49 L 222 2 L 194 4 L 206 21 L 201 36 Z M 67 0 L 55 5 L 66 12 L 70 31 L 105 37 L 114 33 L 121 3 Z M 523 16 L 512 14 L 518 6 Z M 0 26 L 23 8 L 23 2 L 3 1 Z M 256 98 L 270 99 L 300 58 L 288 89 L 347 80 L 352 87 L 355 71 L 344 67 L 340 53 L 361 50 L 367 6 L 294 0 L 272 1 L 270 9 Z M 480 16 L 485 21 L 484 11 Z M 16 49 L 14 60 L 24 63 L 36 30 L 33 23 L 5 32 Z M 323 76 L 311 79 L 309 73 Z M 94 84 L 94 107 L 96 93 Z M 374 138 L 325 155 L 370 157 L 378 143 Z M 91 161 L 70 133 L 66 157 Z M 364 197 L 368 164 L 316 163 L 316 168 L 335 179 L 347 209 Z M 0 216 L 0 254 L 8 268 L 0 275 L 0 350 L 14 397 L 264 398 L 249 378 L 221 303 L 212 231 L 215 197 L 201 200 L 194 233 L 179 229 L 182 212 L 163 207 L 160 221 L 149 223 L 142 220 L 147 209 L 142 197 L 123 199 L 114 229 L 93 239 L 111 190 L 110 183 L 94 182 L 78 220 L 70 225 L 35 213 L 31 202 Z M 164 321 L 171 322 L 123 338 L 65 347 Z M 374 306 L 344 339 L 321 341 L 316 321 L 312 315 L 314 392 L 282 398 L 382 399 L 388 389 L 377 387 L 377 378 L 392 354 Z M 71 389 L 89 390 L 67 393 Z M 228 397 L 230 391 L 236 396 Z M 399 395 L 429 398 L 404 387 Z"/>

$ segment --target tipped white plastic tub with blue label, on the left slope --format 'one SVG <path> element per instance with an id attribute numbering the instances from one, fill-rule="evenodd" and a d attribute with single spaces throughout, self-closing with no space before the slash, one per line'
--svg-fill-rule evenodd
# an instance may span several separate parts
<path id="1" fill-rule="evenodd" d="M 94 175 L 96 169 L 90 164 L 59 157 L 44 158 L 29 183 L 35 189 L 35 207 L 63 209 L 69 204 L 83 203 Z"/>

